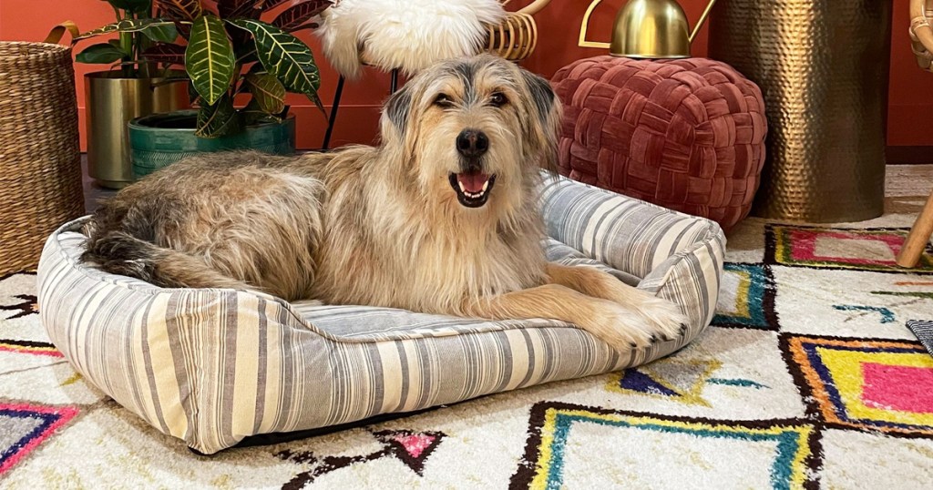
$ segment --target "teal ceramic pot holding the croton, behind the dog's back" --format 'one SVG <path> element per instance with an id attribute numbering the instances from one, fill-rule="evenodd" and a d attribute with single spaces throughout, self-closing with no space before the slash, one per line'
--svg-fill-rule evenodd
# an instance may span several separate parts
<path id="1" fill-rule="evenodd" d="M 231 149 L 255 149 L 273 155 L 295 153 L 295 118 L 280 123 L 248 126 L 244 131 L 219 138 L 194 135 L 198 112 L 175 111 L 130 121 L 132 176 L 149 175 L 175 161 L 198 153 Z"/>

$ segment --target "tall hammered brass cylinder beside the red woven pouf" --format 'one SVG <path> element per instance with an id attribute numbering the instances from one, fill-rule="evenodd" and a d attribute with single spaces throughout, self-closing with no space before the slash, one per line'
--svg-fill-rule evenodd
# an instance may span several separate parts
<path id="1" fill-rule="evenodd" d="M 890 46 L 891 0 L 717 3 L 709 56 L 758 83 L 768 116 L 753 215 L 882 215 Z"/>

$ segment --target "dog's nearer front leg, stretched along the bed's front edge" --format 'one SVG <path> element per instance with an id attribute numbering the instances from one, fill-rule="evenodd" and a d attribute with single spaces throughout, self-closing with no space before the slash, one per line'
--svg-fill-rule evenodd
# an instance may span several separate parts
<path id="1" fill-rule="evenodd" d="M 468 301 L 466 315 L 496 320 L 553 318 L 578 326 L 609 345 L 627 350 L 673 337 L 679 324 L 658 325 L 633 308 L 593 298 L 558 284 L 547 284 Z M 678 320 L 675 320 L 678 321 Z"/>

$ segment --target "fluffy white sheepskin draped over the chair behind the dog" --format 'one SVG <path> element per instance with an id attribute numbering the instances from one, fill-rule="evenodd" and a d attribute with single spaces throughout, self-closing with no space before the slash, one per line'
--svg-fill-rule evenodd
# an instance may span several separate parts
<path id="1" fill-rule="evenodd" d="M 411 75 L 431 63 L 476 54 L 484 24 L 505 17 L 499 0 L 340 0 L 317 30 L 330 64 L 344 77 L 368 63 Z"/>

